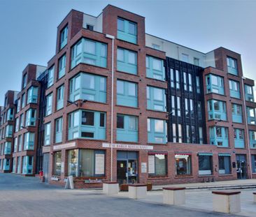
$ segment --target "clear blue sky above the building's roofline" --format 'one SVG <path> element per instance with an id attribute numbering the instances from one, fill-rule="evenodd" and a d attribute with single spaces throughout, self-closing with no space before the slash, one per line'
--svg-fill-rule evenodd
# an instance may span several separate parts
<path id="1" fill-rule="evenodd" d="M 144 16 L 146 33 L 201 52 L 238 52 L 244 76 L 256 80 L 256 0 L 0 0 L 0 105 L 6 91 L 20 91 L 28 63 L 47 66 L 72 8 L 97 16 L 108 3 Z"/>

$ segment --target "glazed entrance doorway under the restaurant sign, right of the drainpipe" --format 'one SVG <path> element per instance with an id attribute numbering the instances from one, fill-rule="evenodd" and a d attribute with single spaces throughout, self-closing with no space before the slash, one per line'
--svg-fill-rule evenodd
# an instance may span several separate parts
<path id="1" fill-rule="evenodd" d="M 117 174 L 119 184 L 138 182 L 138 152 L 118 151 Z"/>

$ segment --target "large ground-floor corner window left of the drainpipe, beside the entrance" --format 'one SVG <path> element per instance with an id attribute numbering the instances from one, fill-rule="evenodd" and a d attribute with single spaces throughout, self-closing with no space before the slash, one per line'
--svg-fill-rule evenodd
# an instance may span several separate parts
<path id="1" fill-rule="evenodd" d="M 91 149 L 70 150 L 68 175 L 73 177 L 104 177 L 105 151 Z"/>

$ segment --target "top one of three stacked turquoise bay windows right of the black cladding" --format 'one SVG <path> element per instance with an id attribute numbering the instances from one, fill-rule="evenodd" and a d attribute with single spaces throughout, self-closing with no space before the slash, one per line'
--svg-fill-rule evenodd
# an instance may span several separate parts
<path id="1" fill-rule="evenodd" d="M 224 95 L 224 80 L 218 75 L 206 75 L 207 93 L 218 93 Z"/>

